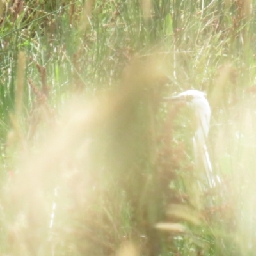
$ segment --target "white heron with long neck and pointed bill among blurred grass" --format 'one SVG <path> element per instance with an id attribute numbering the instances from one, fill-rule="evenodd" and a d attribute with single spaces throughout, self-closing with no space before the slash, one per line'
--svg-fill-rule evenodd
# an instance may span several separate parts
<path id="1" fill-rule="evenodd" d="M 196 131 L 193 136 L 196 168 L 203 166 L 209 186 L 211 188 L 216 186 L 209 152 L 207 150 L 207 136 L 210 128 L 211 108 L 205 97 L 205 93 L 198 90 L 187 90 L 177 96 L 168 97 L 166 99 L 184 102 L 189 108 L 193 109 L 196 125 Z M 216 177 L 216 179 L 218 180 L 218 177 Z"/>

